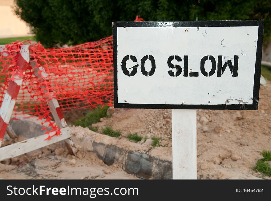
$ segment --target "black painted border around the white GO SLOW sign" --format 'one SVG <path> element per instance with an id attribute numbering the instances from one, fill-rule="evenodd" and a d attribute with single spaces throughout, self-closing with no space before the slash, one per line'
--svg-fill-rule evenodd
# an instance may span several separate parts
<path id="1" fill-rule="evenodd" d="M 117 61 L 117 27 L 227 27 L 258 26 L 258 41 L 253 85 L 253 104 L 133 104 L 118 102 L 118 61 Z M 113 22 L 113 61 L 114 61 L 114 108 L 149 108 L 149 109 L 227 109 L 257 110 L 261 80 L 261 57 L 263 45 L 264 20 L 222 20 L 222 21 L 174 21 L 174 22 Z"/>

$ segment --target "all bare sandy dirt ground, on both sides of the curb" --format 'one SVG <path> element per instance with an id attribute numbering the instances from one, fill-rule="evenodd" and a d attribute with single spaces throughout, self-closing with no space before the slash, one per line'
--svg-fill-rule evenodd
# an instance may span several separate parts
<path id="1" fill-rule="evenodd" d="M 271 86 L 270 81 L 268 84 Z M 197 111 L 199 179 L 271 179 L 253 170 L 257 160 L 262 158 L 260 152 L 271 150 L 269 100 L 271 87 L 261 86 L 257 111 Z M 110 118 L 93 124 L 99 132 L 111 126 L 121 132 L 120 138 L 135 132 L 147 138 L 158 137 L 165 152 L 171 152 L 171 110 L 111 110 Z M 79 153 L 74 157 L 62 147 L 63 144 L 51 145 L 40 153 L 32 153 L 33 156 L 23 155 L 0 163 L 0 179 L 137 179 L 117 166 L 103 164 L 95 154 Z M 59 152 L 62 153 L 59 155 Z"/>

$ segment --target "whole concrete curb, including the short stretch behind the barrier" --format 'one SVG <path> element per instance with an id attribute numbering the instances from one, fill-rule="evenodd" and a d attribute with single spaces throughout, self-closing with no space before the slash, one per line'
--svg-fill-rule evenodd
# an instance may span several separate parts
<path id="1" fill-rule="evenodd" d="M 38 121 L 32 119 L 13 120 L 11 126 L 18 136 L 34 137 L 42 135 Z M 142 179 L 172 179 L 171 147 L 145 146 L 117 139 L 88 128 L 71 126 L 73 140 L 82 152 L 95 152 L 107 165 L 117 165 L 129 174 Z"/>

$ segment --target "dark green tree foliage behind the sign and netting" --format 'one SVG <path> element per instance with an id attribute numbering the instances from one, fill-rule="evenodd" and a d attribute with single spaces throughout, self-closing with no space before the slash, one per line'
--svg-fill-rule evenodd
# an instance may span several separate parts
<path id="1" fill-rule="evenodd" d="M 15 0 L 15 13 L 45 46 L 80 44 L 112 33 L 113 21 L 264 19 L 271 36 L 269 0 Z"/>

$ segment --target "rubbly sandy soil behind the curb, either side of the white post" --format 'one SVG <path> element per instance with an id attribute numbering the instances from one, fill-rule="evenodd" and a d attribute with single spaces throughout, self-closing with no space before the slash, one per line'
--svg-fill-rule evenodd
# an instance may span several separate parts
<path id="1" fill-rule="evenodd" d="M 271 86 L 270 81 L 268 82 Z M 271 150 L 271 88 L 261 86 L 256 111 L 197 110 L 197 170 L 202 179 L 252 179 L 262 177 L 253 167 Z M 125 137 L 137 132 L 158 137 L 171 148 L 171 110 L 117 109 L 111 118 L 93 124 L 106 125 Z M 254 176 L 253 176 L 254 175 Z M 264 177 L 270 179 L 270 177 Z"/>

